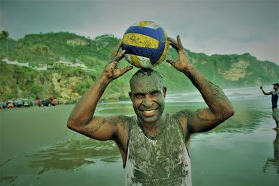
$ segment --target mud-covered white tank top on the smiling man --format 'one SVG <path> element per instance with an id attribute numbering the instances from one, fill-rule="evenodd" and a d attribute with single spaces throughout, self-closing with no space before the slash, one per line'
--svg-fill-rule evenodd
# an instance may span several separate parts
<path id="1" fill-rule="evenodd" d="M 167 114 L 165 128 L 149 138 L 135 117 L 125 164 L 126 185 L 192 185 L 191 164 L 179 122 Z"/>

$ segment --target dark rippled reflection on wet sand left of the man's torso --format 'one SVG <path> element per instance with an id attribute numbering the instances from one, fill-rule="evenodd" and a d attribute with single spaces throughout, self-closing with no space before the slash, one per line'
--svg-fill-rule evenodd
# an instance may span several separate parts
<path id="1" fill-rule="evenodd" d="M 66 143 L 38 151 L 32 158 L 31 168 L 43 167 L 38 174 L 50 169 L 71 170 L 96 161 L 116 162 L 119 151 L 113 141 L 96 141 L 86 137 L 70 139 Z"/>

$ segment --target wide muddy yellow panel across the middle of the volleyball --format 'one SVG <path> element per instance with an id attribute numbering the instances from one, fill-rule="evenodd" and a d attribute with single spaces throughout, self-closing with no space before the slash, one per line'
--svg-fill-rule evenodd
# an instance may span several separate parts
<path id="1" fill-rule="evenodd" d="M 140 33 L 126 33 L 123 36 L 123 44 L 135 47 L 148 47 L 151 49 L 157 49 L 159 41 Z"/>

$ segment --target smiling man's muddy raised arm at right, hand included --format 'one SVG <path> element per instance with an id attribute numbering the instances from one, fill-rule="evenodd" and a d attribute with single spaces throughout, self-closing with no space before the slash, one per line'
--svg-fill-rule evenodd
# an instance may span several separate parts
<path id="1" fill-rule="evenodd" d="M 178 52 L 179 61 L 167 60 L 167 62 L 172 64 L 176 70 L 183 72 L 190 79 L 209 106 L 209 108 L 199 109 L 193 112 L 193 114 L 187 116 L 188 118 L 180 118 L 179 121 L 183 121 L 181 125 L 186 125 L 190 133 L 206 132 L 233 116 L 234 109 L 225 93 L 218 86 L 209 82 L 208 79 L 190 64 L 179 36 L 177 36 L 177 40 L 173 38 L 168 38 L 168 40 L 170 42 L 169 44 Z"/>

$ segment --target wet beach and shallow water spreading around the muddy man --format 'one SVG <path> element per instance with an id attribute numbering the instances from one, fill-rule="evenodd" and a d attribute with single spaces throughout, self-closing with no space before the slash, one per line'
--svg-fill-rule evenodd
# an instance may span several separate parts
<path id="1" fill-rule="evenodd" d="M 272 90 L 271 86 L 264 86 Z M 278 133 L 271 98 L 259 87 L 225 90 L 235 115 L 193 134 L 193 185 L 279 185 Z M 165 111 L 206 107 L 197 92 L 167 95 Z M 124 185 L 114 141 L 96 141 L 66 127 L 73 104 L 0 111 L 1 185 Z M 119 109 L 121 108 L 121 109 Z M 98 104 L 96 115 L 134 114 L 131 102 Z"/>

